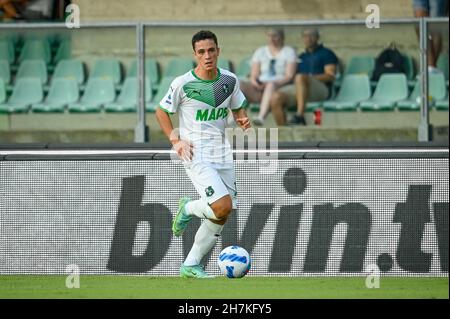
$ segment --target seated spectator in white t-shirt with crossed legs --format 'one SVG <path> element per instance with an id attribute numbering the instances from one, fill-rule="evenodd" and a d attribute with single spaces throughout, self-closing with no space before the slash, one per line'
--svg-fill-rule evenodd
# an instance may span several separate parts
<path id="1" fill-rule="evenodd" d="M 272 94 L 286 84 L 292 83 L 297 57 L 295 50 L 284 45 L 284 31 L 270 29 L 267 45 L 258 48 L 251 59 L 250 82 L 241 81 L 241 90 L 250 103 L 260 103 L 259 114 L 253 119 L 263 125 L 270 111 Z"/>

